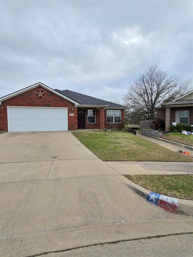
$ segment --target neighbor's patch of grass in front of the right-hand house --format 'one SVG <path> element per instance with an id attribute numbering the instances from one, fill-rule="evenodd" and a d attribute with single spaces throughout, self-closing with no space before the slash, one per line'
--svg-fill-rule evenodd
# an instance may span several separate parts
<path id="1" fill-rule="evenodd" d="M 184 145 L 193 146 L 193 135 L 183 135 L 182 132 L 164 133 L 162 138 L 182 143 Z"/>

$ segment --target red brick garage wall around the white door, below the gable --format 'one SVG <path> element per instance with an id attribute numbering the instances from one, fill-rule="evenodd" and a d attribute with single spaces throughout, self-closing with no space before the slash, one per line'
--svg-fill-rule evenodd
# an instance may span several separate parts
<path id="1" fill-rule="evenodd" d="M 44 97 L 36 96 L 37 90 L 43 90 Z M 68 100 L 38 86 L 20 95 L 14 96 L 0 105 L 0 131 L 8 131 L 7 106 L 34 106 L 34 107 L 67 107 L 68 108 L 68 130 L 78 129 L 77 107 Z M 73 110 L 72 110 L 73 109 Z M 74 113 L 74 116 L 69 116 Z"/>

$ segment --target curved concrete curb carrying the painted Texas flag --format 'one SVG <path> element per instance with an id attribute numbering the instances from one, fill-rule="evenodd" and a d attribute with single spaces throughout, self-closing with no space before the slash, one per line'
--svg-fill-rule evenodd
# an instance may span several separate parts
<path id="1" fill-rule="evenodd" d="M 125 183 L 125 184 L 129 188 L 131 188 L 135 193 L 137 193 L 138 195 L 145 198 L 147 202 L 157 205 L 166 211 L 169 211 L 169 212 L 172 212 L 175 214 L 184 214 L 184 215 L 188 215 L 188 216 L 193 215 L 193 201 L 192 200 L 185 200 L 185 199 L 179 199 L 179 198 L 161 195 L 162 198 L 158 199 L 158 204 L 155 204 L 154 203 L 155 201 L 154 200 L 151 201 L 150 198 L 153 195 L 154 196 L 158 195 L 157 193 L 151 192 L 151 191 L 147 190 L 146 188 L 133 183 L 131 180 L 128 180 L 128 183 Z"/>

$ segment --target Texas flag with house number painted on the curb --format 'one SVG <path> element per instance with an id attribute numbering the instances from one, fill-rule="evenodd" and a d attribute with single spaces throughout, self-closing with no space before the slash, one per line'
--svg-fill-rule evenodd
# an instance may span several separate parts
<path id="1" fill-rule="evenodd" d="M 157 205 L 162 209 L 177 214 L 178 213 L 178 199 L 163 196 L 154 192 L 150 192 L 147 196 L 147 202 Z"/>

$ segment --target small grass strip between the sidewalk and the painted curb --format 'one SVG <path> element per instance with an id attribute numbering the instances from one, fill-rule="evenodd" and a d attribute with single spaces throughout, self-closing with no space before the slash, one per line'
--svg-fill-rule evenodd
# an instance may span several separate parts
<path id="1" fill-rule="evenodd" d="M 124 175 L 152 192 L 181 199 L 193 199 L 193 175 Z"/>

